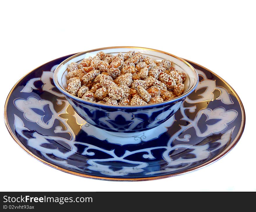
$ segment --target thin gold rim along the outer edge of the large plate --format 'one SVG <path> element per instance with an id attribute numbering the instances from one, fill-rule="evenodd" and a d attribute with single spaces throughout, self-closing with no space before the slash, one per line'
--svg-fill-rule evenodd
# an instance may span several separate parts
<path id="1" fill-rule="evenodd" d="M 138 47 L 139 48 L 139 47 Z M 57 59 L 54 59 L 54 60 L 58 60 L 59 58 Z M 54 60 L 51 60 L 49 62 L 52 62 Z M 185 59 L 184 59 L 185 60 Z M 192 61 L 189 61 L 189 60 L 186 60 L 187 62 L 190 62 L 190 63 L 193 63 L 195 65 L 197 65 L 198 67 L 201 67 L 202 69 L 205 69 L 209 72 L 211 72 L 212 74 L 214 74 L 215 76 L 217 76 L 219 79 L 221 79 L 226 85 L 227 87 L 229 87 L 229 89 L 232 91 L 233 95 L 237 98 L 238 102 L 239 102 L 239 105 L 240 105 L 240 108 L 241 108 L 241 112 L 242 112 L 242 125 L 239 129 L 239 132 L 237 134 L 237 136 L 234 138 L 234 141 L 232 142 L 232 145 L 229 146 L 229 148 L 225 149 L 223 152 L 221 152 L 221 154 L 219 154 L 217 157 L 211 159 L 210 161 L 204 163 L 204 164 L 201 164 L 200 166 L 197 166 L 197 167 L 194 167 L 194 168 L 190 168 L 188 170 L 185 170 L 185 171 L 182 171 L 180 173 L 175 173 L 175 174 L 169 174 L 169 175 L 162 175 L 162 176 L 156 176 L 156 177 L 142 177 L 142 178 L 113 178 L 113 177 L 98 177 L 98 176 L 92 176 L 92 175 L 86 175 L 86 174 L 81 174 L 81 173 L 77 173 L 77 172 L 73 172 L 73 171 L 70 171 L 70 170 L 66 170 L 64 168 L 61 168 L 59 166 L 56 166 L 56 165 L 53 165 L 39 157 L 37 157 L 35 154 L 33 154 L 32 152 L 30 152 L 20 141 L 19 139 L 17 139 L 17 137 L 15 136 L 15 134 L 12 132 L 11 128 L 10 128 L 10 125 L 8 123 L 8 119 L 7 119 L 7 105 L 8 105 L 8 101 L 9 101 L 9 98 L 10 98 L 10 95 L 12 94 L 13 90 L 15 89 L 15 87 L 17 86 L 17 84 L 19 84 L 19 82 L 21 80 L 23 80 L 24 77 L 26 77 L 28 74 L 30 74 L 31 72 L 33 72 L 35 69 L 38 69 L 39 67 L 45 65 L 41 65 L 35 69 L 33 69 L 32 71 L 30 71 L 29 73 L 27 73 L 25 76 L 23 76 L 14 86 L 13 88 L 11 89 L 11 91 L 9 92 L 7 98 L 6 98 L 6 102 L 5 102 L 5 106 L 4 106 L 4 121 L 5 121 L 5 124 L 6 124 L 6 127 L 10 133 L 10 135 L 13 137 L 13 139 L 15 140 L 15 142 L 23 149 L 25 150 L 28 154 L 30 154 L 32 157 L 34 157 L 35 159 L 41 161 L 42 163 L 48 165 L 48 166 L 51 166 L 53 168 L 56 168 L 58 170 L 61 170 L 63 172 L 66 172 L 66 173 L 69 173 L 69 174 L 73 174 L 73 175 L 77 175 L 77 176 L 80 176 L 80 177 L 87 177 L 87 178 L 92 178 L 92 179 L 102 179 L 102 180 L 110 180 L 110 181 L 145 181 L 145 180 L 155 180 L 155 179 L 163 179 L 163 178 L 167 178 L 167 177 L 173 177 L 173 176 L 177 176 L 177 175 L 182 175 L 184 173 L 189 173 L 191 171 L 194 171 L 194 170 L 198 170 L 202 167 L 205 167 L 205 166 L 208 166 L 210 165 L 211 163 L 217 161 L 218 159 L 222 158 L 225 154 L 227 154 L 236 144 L 237 142 L 240 140 L 241 138 L 241 135 L 243 134 L 243 130 L 244 130 L 244 126 L 245 126 L 245 111 L 244 111 L 244 107 L 243 107 L 243 104 L 241 102 L 241 99 L 239 98 L 239 96 L 237 95 L 237 93 L 234 91 L 234 89 L 225 81 L 223 80 L 223 78 L 221 78 L 220 76 L 218 76 L 217 74 L 215 74 L 214 72 L 210 71 L 209 69 L 195 63 L 195 62 L 192 62 Z M 47 62 L 48 63 L 48 62 Z"/>

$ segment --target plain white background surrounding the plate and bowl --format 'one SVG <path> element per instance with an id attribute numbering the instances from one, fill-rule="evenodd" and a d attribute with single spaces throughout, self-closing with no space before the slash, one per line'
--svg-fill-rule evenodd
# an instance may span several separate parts
<path id="1" fill-rule="evenodd" d="M 86 179 L 46 166 L 15 143 L 2 115 L 1 191 L 256 191 L 253 1 L 4 1 L 0 20 L 2 114 L 13 85 L 41 64 L 94 48 L 143 46 L 214 71 L 247 115 L 240 141 L 219 161 L 146 182 Z"/>

